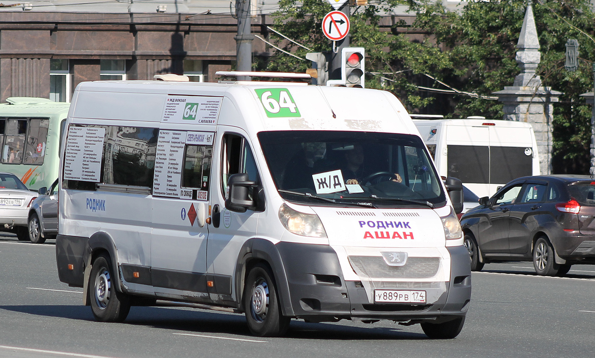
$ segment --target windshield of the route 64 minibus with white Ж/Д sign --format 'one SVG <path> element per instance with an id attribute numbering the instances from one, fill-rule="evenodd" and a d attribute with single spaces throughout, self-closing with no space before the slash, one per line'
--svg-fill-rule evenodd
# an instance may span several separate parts
<path id="1" fill-rule="evenodd" d="M 446 205 L 421 139 L 356 131 L 258 133 L 281 196 L 322 205 Z M 325 200 L 330 199 L 330 200 Z"/>

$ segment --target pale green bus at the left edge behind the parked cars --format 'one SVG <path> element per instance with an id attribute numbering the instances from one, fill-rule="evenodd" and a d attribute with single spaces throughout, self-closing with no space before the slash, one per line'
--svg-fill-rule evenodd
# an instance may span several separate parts
<path id="1" fill-rule="evenodd" d="M 70 103 L 10 97 L 0 104 L 0 172 L 17 175 L 31 190 L 58 178 L 60 142 Z"/>

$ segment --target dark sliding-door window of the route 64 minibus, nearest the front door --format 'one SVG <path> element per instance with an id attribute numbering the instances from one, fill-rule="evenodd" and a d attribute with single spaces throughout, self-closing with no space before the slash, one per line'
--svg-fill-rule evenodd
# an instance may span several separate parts
<path id="1" fill-rule="evenodd" d="M 208 190 L 213 146 L 186 146 L 182 187 Z"/>

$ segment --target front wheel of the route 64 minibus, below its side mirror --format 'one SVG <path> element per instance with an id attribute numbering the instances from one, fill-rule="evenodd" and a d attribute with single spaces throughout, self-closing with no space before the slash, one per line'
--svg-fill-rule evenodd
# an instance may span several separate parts
<path id="1" fill-rule="evenodd" d="M 257 337 L 280 337 L 289 328 L 290 318 L 281 313 L 273 274 L 265 265 L 258 264 L 250 270 L 244 306 L 248 328 Z"/>

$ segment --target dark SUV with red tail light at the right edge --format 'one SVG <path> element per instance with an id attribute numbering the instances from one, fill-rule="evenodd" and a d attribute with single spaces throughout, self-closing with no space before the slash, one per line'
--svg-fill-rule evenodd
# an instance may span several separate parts
<path id="1" fill-rule="evenodd" d="M 538 275 L 595 264 L 595 179 L 540 175 L 511 181 L 461 218 L 471 269 L 531 261 Z"/>

